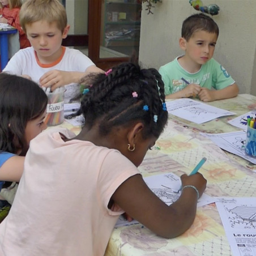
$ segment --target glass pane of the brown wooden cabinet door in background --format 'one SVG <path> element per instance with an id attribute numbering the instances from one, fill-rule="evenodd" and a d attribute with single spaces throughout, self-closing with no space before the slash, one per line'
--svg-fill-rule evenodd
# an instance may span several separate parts
<path id="1" fill-rule="evenodd" d="M 100 58 L 139 55 L 140 0 L 105 0 L 101 8 Z"/>

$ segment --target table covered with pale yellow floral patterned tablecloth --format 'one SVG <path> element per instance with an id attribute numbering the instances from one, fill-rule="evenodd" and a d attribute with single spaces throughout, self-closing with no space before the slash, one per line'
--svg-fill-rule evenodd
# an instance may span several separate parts
<path id="1" fill-rule="evenodd" d="M 205 156 L 207 162 L 200 172 L 207 179 L 206 194 L 212 197 L 255 197 L 256 174 L 253 170 L 256 166 L 241 157 L 224 152 L 198 131 L 223 133 L 239 130 L 227 122 L 255 108 L 256 97 L 242 94 L 233 99 L 208 104 L 237 114 L 201 125 L 170 115 L 168 126 L 153 150 L 148 151 L 139 167 L 140 171 L 144 177 L 164 172 L 173 172 L 178 176 L 182 173 L 189 174 Z M 219 212 L 213 203 L 198 208 L 191 228 L 177 238 L 161 238 L 141 224 L 115 228 L 105 253 L 105 256 L 111 255 L 231 256 L 232 252 Z"/>

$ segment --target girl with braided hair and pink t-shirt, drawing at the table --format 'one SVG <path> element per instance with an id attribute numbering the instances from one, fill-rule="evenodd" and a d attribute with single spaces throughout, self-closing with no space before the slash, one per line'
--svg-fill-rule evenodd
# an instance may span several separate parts
<path id="1" fill-rule="evenodd" d="M 123 63 L 85 82 L 82 131 L 52 128 L 30 144 L 14 204 L 0 224 L 2 254 L 104 255 L 123 212 L 168 238 L 194 221 L 206 187 L 202 174 L 181 176 L 190 186 L 167 206 L 137 169 L 168 119 L 159 72 Z"/>

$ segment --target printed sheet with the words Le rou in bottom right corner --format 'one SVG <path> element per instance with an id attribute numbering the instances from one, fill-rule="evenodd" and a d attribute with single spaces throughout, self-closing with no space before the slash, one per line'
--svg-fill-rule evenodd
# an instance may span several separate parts
<path id="1" fill-rule="evenodd" d="M 216 202 L 233 255 L 256 255 L 256 198 L 218 198 Z"/>

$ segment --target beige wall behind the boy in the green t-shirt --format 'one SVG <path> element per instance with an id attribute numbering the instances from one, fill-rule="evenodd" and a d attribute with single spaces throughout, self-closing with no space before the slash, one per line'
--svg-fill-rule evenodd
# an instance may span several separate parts
<path id="1" fill-rule="evenodd" d="M 219 25 L 214 58 L 228 70 L 240 88 L 240 93 L 256 95 L 256 1 L 255 0 L 203 0 L 208 6 L 220 7 L 212 16 Z M 181 25 L 194 10 L 189 0 L 163 0 L 153 4 L 153 15 L 147 14 L 146 3 L 142 7 L 139 62 L 144 67 L 155 67 L 172 61 L 182 54 L 178 46 Z"/>

